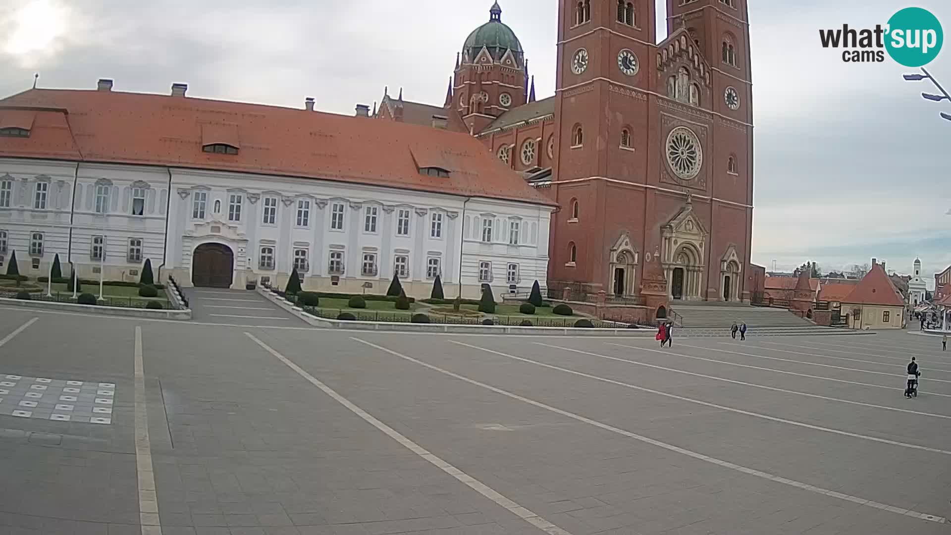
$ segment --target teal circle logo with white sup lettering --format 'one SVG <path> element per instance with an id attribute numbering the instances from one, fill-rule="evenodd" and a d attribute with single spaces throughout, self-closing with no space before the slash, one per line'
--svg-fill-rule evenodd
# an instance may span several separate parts
<path id="1" fill-rule="evenodd" d="M 923 67 L 941 52 L 944 32 L 938 17 L 922 8 L 905 8 L 888 19 L 885 50 L 905 67 Z"/>

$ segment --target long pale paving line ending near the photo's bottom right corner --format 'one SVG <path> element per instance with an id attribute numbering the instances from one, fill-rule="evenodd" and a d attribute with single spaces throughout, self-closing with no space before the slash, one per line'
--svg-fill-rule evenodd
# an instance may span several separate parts
<path id="1" fill-rule="evenodd" d="M 579 421 L 579 422 L 584 422 L 584 423 L 590 424 L 590 425 L 592 425 L 592 426 L 600 427 L 600 428 L 602 428 L 602 429 L 609 430 L 609 431 L 611 431 L 611 432 L 613 432 L 613 433 L 617 433 L 617 434 L 620 434 L 620 435 L 623 435 L 623 436 L 632 438 L 632 439 L 634 439 L 634 440 L 637 440 L 637 441 L 640 441 L 640 442 L 644 442 L 644 443 L 646 443 L 646 444 L 650 444 L 650 445 L 652 445 L 652 446 L 663 447 L 663 448 L 668 449 L 668 450 L 670 450 L 670 451 L 674 451 L 674 452 L 676 452 L 676 453 L 681 453 L 681 454 L 683 454 L 683 455 L 686 455 L 686 456 L 689 456 L 689 457 L 691 457 L 691 458 L 698 459 L 698 460 L 701 460 L 701 461 L 705 461 L 705 462 L 710 463 L 710 464 L 713 464 L 713 465 L 723 466 L 723 467 L 729 468 L 729 469 L 731 469 L 731 470 L 735 470 L 735 471 L 742 472 L 742 473 L 745 473 L 745 474 L 748 474 L 748 475 L 752 475 L 752 476 L 756 476 L 756 477 L 759 477 L 759 478 L 763 478 L 763 479 L 766 479 L 766 480 L 769 480 L 769 481 L 773 481 L 773 482 L 776 482 L 776 483 L 780 483 L 780 484 L 783 484 L 783 485 L 789 485 L 789 486 L 801 488 L 801 489 L 807 490 L 807 491 L 809 491 L 809 492 L 815 492 L 815 493 L 818 493 L 818 494 L 825 494 L 825 495 L 827 495 L 827 496 L 829 496 L 829 497 L 836 498 L 836 499 L 839 499 L 839 500 L 848 501 L 848 502 L 852 502 L 852 503 L 855 503 L 855 504 L 858 504 L 858 505 L 866 505 L 866 506 L 869 506 L 869 507 L 874 507 L 874 508 L 877 508 L 877 509 L 882 509 L 882 510 L 884 510 L 884 511 L 889 511 L 889 512 L 893 512 L 893 513 L 896 513 L 896 514 L 901 514 L 901 515 L 909 516 L 909 517 L 913 517 L 913 518 L 918 518 L 918 519 L 925 520 L 925 521 L 929 521 L 929 522 L 935 522 L 935 523 L 938 523 L 938 524 L 946 524 L 946 523 L 947 523 L 947 521 L 946 521 L 946 519 L 945 519 L 944 517 L 941 517 L 941 516 L 938 516 L 938 515 L 931 515 L 931 514 L 922 513 L 922 512 L 918 512 L 918 511 L 914 511 L 914 510 L 910 510 L 910 509 L 905 509 L 905 508 L 902 508 L 902 507 L 896 507 L 896 506 L 894 506 L 894 505 L 886 505 L 886 504 L 882 504 L 882 503 L 875 502 L 875 501 L 871 501 L 871 500 L 865 500 L 864 498 L 861 498 L 861 497 L 859 497 L 859 496 L 852 496 L 852 495 L 848 495 L 848 494 L 843 494 L 843 493 L 841 493 L 841 492 L 836 492 L 836 491 L 833 491 L 833 490 L 830 490 L 830 489 L 827 489 L 827 488 L 823 488 L 823 487 L 819 487 L 819 486 L 815 486 L 815 485 L 808 485 L 808 484 L 805 484 L 805 483 L 802 483 L 802 482 L 798 482 L 798 481 L 795 481 L 795 480 L 790 480 L 790 479 L 782 478 L 782 477 L 779 477 L 779 476 L 776 476 L 776 475 L 773 475 L 773 474 L 769 474 L 769 473 L 767 473 L 767 472 L 763 472 L 763 471 L 760 471 L 760 470 L 756 470 L 756 469 L 753 469 L 753 468 L 749 468 L 749 467 L 747 467 L 747 466 L 740 466 L 740 465 L 735 465 L 735 464 L 733 464 L 733 463 L 728 463 L 727 461 L 723 461 L 723 460 L 720 460 L 720 459 L 716 459 L 716 458 L 713 458 L 713 457 L 709 457 L 708 455 L 704 455 L 704 454 L 702 454 L 702 453 L 697 453 L 697 452 L 695 452 L 695 451 L 691 451 L 691 450 L 689 450 L 689 449 L 685 449 L 685 448 L 682 448 L 682 447 L 679 447 L 679 446 L 673 446 L 673 445 L 670 445 L 670 444 L 667 444 L 667 443 L 664 443 L 664 442 L 660 442 L 660 441 L 651 439 L 650 437 L 646 437 L 646 436 L 643 436 L 643 435 L 638 435 L 638 434 L 636 434 L 636 433 L 632 433 L 631 431 L 628 431 L 628 430 L 626 430 L 626 429 L 621 429 L 621 428 L 619 428 L 619 427 L 615 427 L 615 426 L 611 426 L 611 425 L 608 425 L 608 424 L 604 424 L 604 423 L 602 423 L 602 422 L 598 422 L 598 421 L 596 421 L 596 420 L 592 420 L 591 418 L 587 418 L 587 417 L 585 417 L 585 416 L 581 416 L 581 415 L 579 415 L 579 414 L 575 414 L 575 413 L 573 413 L 573 412 L 570 412 L 570 411 L 567 411 L 567 410 L 563 410 L 563 409 L 557 408 L 557 407 L 555 407 L 555 406 L 549 406 L 549 405 L 543 404 L 543 403 L 541 403 L 541 402 L 534 401 L 534 400 L 532 400 L 532 399 L 526 398 L 526 397 L 524 397 L 524 396 L 520 396 L 520 395 L 518 395 L 518 394 L 515 394 L 515 393 L 513 393 L 513 392 L 509 392 L 509 391 L 507 391 L 507 390 L 503 390 L 503 389 L 498 388 L 498 387 L 495 387 L 495 386 L 491 386 L 491 385 L 487 385 L 487 384 L 485 384 L 485 383 L 481 383 L 481 382 L 479 382 L 479 381 L 476 381 L 475 379 L 470 379 L 469 377 L 466 377 L 466 376 L 464 376 L 464 375 L 457 374 L 457 373 L 455 373 L 455 372 L 453 372 L 453 371 L 449 371 L 449 370 L 447 370 L 447 369 L 443 369 L 443 368 L 441 368 L 441 367 L 437 367 L 437 366 L 435 366 L 435 365 L 431 365 L 431 364 L 429 364 L 429 363 L 420 361 L 420 360 L 415 359 L 415 358 L 413 358 L 413 357 L 410 357 L 410 356 L 404 355 L 404 354 L 402 354 L 402 353 L 399 353 L 398 351 L 394 351 L 393 349 L 389 349 L 389 348 L 387 348 L 387 347 L 378 346 L 377 344 L 373 344 L 372 342 L 367 342 L 367 341 L 365 341 L 365 340 L 362 340 L 362 339 L 359 339 L 359 338 L 356 338 L 356 337 L 351 337 L 351 340 L 354 340 L 354 341 L 356 341 L 356 342 L 359 342 L 359 343 L 364 344 L 364 345 L 369 346 L 369 347 L 375 347 L 375 348 L 377 348 L 377 349 L 379 349 L 379 350 L 381 350 L 381 351 L 387 352 L 387 353 L 392 354 L 392 355 L 394 355 L 394 356 L 397 356 L 397 357 L 399 357 L 399 358 L 401 358 L 401 359 L 404 359 L 404 360 L 407 360 L 407 361 L 409 361 L 409 362 L 415 363 L 415 364 L 417 364 L 417 365 L 419 365 L 419 366 L 428 367 L 428 368 L 433 369 L 433 370 L 435 370 L 435 371 L 437 371 L 437 372 L 439 372 L 439 373 L 442 373 L 442 374 L 444 374 L 444 375 L 448 375 L 448 376 L 450 376 L 450 377 L 453 377 L 453 378 L 455 378 L 455 379 L 458 379 L 459 381 L 464 381 L 464 382 L 466 382 L 466 383 L 469 383 L 469 384 L 475 385 L 475 386 L 481 386 L 481 387 L 483 387 L 483 388 L 486 388 L 486 389 L 488 389 L 488 390 L 491 390 L 491 391 L 496 392 L 496 393 L 498 393 L 498 394 L 501 394 L 501 395 L 503 395 L 503 396 L 512 398 L 512 399 L 514 399 L 514 400 L 518 400 L 518 401 L 521 401 L 521 402 L 523 402 L 523 403 L 527 403 L 527 404 L 530 404 L 530 405 L 533 405 L 533 406 L 537 406 L 537 407 L 539 407 L 539 408 L 544 408 L 544 409 L 550 410 L 550 411 L 552 411 L 552 412 L 554 412 L 554 413 L 556 413 L 556 414 L 561 414 L 562 416 L 567 416 L 567 417 L 569 417 L 569 418 L 572 418 L 573 420 L 577 420 L 577 421 Z M 500 352 L 500 351 L 495 351 L 494 349 L 487 349 L 487 348 L 484 348 L 484 347 L 470 346 L 470 345 L 468 345 L 468 344 L 463 344 L 463 343 L 461 343 L 461 342 L 454 342 L 454 343 L 455 343 L 455 344 L 458 344 L 458 345 L 460 345 L 460 346 L 472 347 L 472 348 L 475 348 L 475 349 L 478 349 L 478 350 L 486 351 L 486 352 L 489 352 L 489 353 L 494 353 L 494 354 L 496 354 L 496 355 L 503 356 L 503 357 L 507 357 L 507 358 L 513 358 L 513 359 L 516 359 L 516 360 L 527 360 L 527 359 L 522 359 L 521 357 L 514 357 L 513 355 L 509 355 L 509 354 L 506 354 L 506 353 L 502 353 L 502 352 Z M 552 367 L 551 365 L 544 365 L 544 366 Z M 555 367 L 555 368 L 557 368 L 557 367 Z M 567 370 L 567 369 L 566 369 L 566 370 Z M 571 371 L 571 370 L 567 370 L 567 371 Z M 582 374 L 581 372 L 573 372 L 573 373 L 577 373 L 577 374 L 579 374 L 579 375 L 587 375 L 587 374 Z M 592 377 L 594 377 L 594 376 L 592 376 Z M 608 380 L 608 381 L 611 381 L 611 380 Z"/>

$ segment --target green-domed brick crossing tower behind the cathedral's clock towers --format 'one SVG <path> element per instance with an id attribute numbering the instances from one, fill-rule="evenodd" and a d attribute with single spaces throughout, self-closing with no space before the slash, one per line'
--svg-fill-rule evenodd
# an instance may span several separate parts
<path id="1" fill-rule="evenodd" d="M 489 22 L 469 34 L 456 57 L 452 107 L 477 133 L 527 99 L 525 52 L 514 31 L 502 23 L 502 9 L 495 2 Z"/>

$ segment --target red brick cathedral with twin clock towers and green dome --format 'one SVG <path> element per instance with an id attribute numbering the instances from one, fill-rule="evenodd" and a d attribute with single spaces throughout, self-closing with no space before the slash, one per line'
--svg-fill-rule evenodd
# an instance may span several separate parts
<path id="1" fill-rule="evenodd" d="M 553 97 L 497 3 L 443 107 L 377 116 L 465 129 L 558 205 L 551 288 L 658 306 L 747 301 L 753 136 L 747 0 L 559 0 Z"/>

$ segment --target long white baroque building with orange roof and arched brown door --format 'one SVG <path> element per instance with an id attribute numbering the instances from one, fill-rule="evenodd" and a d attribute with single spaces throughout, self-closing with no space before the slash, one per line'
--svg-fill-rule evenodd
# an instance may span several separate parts
<path id="1" fill-rule="evenodd" d="M 553 202 L 475 138 L 305 109 L 97 90 L 0 100 L 0 262 L 45 275 L 428 297 L 546 286 Z M 438 120 L 438 118 L 436 119 Z M 0 265 L 6 272 L 7 265 Z"/>

